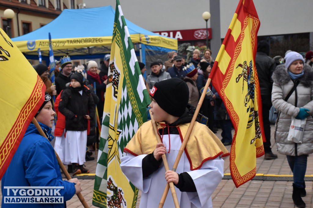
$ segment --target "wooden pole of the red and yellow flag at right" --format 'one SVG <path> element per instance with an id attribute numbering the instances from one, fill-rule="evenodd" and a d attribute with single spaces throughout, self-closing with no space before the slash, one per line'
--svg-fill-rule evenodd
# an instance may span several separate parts
<path id="1" fill-rule="evenodd" d="M 201 97 L 200 97 L 200 100 L 199 100 L 199 102 L 198 102 L 196 111 L 195 111 L 195 113 L 193 114 L 192 120 L 191 120 L 190 125 L 189 125 L 189 127 L 188 127 L 188 129 L 187 129 L 187 133 L 186 133 L 186 135 L 185 135 L 185 138 L 184 138 L 184 140 L 182 141 L 182 146 L 181 146 L 180 149 L 179 149 L 179 152 L 178 152 L 178 155 L 177 155 L 176 160 L 175 160 L 175 162 L 174 162 L 172 171 L 176 171 L 176 168 L 177 168 L 177 166 L 178 166 L 179 160 L 180 160 L 180 158 L 182 157 L 182 153 L 184 152 L 184 149 L 185 149 L 185 147 L 186 147 L 186 144 L 187 144 L 187 141 L 188 141 L 188 139 L 189 139 L 190 133 L 191 133 L 191 131 L 192 131 L 193 125 L 194 125 L 195 122 L 196 122 L 198 113 L 199 113 L 199 111 L 200 111 L 201 105 L 202 105 L 202 103 L 203 103 L 205 94 L 206 94 L 206 92 L 208 91 L 208 87 L 209 87 L 210 83 L 211 83 L 211 78 L 208 78 L 207 83 L 206 83 L 205 86 L 204 86 L 204 89 L 203 89 L 202 95 L 201 95 Z M 159 204 L 159 207 L 158 207 L 158 208 L 162 208 L 162 207 L 163 207 L 164 202 L 165 202 L 165 199 L 166 199 L 166 196 L 167 196 L 167 193 L 168 193 L 168 190 L 169 190 L 169 185 L 166 184 L 165 190 L 164 190 L 164 192 L 163 192 L 163 195 L 162 195 L 162 198 L 161 198 L 161 201 L 160 201 L 160 204 Z M 160 205 L 162 205 L 162 206 L 160 206 Z"/>

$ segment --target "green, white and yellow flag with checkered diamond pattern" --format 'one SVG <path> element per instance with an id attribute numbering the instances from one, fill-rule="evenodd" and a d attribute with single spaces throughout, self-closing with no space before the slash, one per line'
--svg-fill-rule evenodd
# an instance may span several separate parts
<path id="1" fill-rule="evenodd" d="M 138 189 L 121 171 L 124 147 L 147 120 L 150 98 L 118 0 L 92 204 L 135 208 Z"/>

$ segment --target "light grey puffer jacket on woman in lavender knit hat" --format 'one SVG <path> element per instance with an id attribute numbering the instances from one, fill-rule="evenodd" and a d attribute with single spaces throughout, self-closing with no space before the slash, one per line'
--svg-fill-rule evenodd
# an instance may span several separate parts
<path id="1" fill-rule="evenodd" d="M 313 69 L 305 64 L 304 75 L 298 80 L 299 85 L 285 101 L 285 97 L 292 89 L 294 82 L 291 80 L 285 64 L 276 67 L 272 79 L 272 103 L 280 111 L 275 124 L 275 141 L 277 150 L 283 155 L 300 156 L 313 153 Z M 295 102 L 297 102 L 295 106 Z M 288 141 L 288 132 L 291 124 L 291 116 L 296 117 L 301 108 L 310 111 L 307 117 L 302 143 Z"/>

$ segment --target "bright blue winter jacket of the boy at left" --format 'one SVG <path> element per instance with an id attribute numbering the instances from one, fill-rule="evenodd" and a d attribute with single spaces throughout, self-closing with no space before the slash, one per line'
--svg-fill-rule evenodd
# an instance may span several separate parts
<path id="1" fill-rule="evenodd" d="M 51 128 L 39 123 L 49 140 L 53 139 Z M 63 204 L 8 204 L 4 197 L 8 196 L 4 186 L 63 186 L 59 194 L 64 201 L 75 194 L 74 183 L 62 181 L 60 167 L 50 142 L 39 135 L 34 124 L 29 124 L 26 133 L 15 152 L 12 161 L 1 181 L 2 206 L 5 207 L 64 207 Z M 9 196 L 14 196 L 10 190 Z M 19 196 L 19 191 L 17 195 Z M 22 205 L 22 206 L 21 206 Z"/>

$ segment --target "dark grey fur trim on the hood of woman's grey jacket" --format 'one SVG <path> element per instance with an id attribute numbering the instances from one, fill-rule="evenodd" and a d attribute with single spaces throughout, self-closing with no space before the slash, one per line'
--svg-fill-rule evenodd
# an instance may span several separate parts
<path id="1" fill-rule="evenodd" d="M 299 78 L 300 83 L 305 87 L 313 86 L 313 69 L 308 64 L 303 66 L 303 76 Z M 291 78 L 287 72 L 285 64 L 278 65 L 273 73 L 272 79 L 280 86 L 287 84 Z"/>

